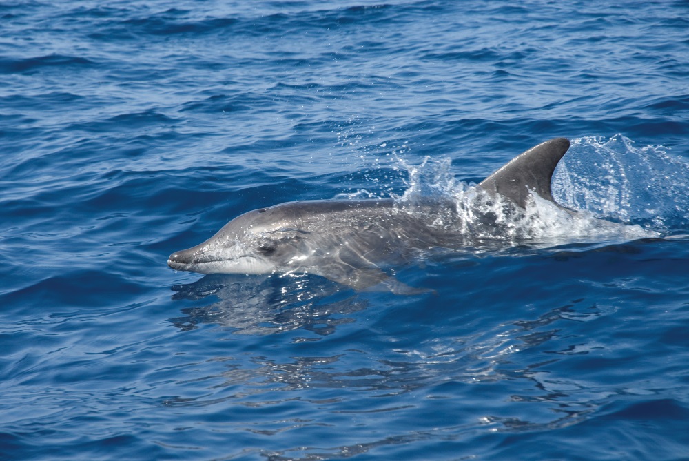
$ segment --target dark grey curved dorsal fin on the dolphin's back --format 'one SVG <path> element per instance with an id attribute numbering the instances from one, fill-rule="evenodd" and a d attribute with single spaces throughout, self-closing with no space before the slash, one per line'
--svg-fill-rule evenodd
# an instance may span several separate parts
<path id="1" fill-rule="evenodd" d="M 491 194 L 509 198 L 520 207 L 526 207 L 530 191 L 553 201 L 551 177 L 560 158 L 569 149 L 569 140 L 555 138 L 516 156 L 504 167 L 479 184 Z"/>

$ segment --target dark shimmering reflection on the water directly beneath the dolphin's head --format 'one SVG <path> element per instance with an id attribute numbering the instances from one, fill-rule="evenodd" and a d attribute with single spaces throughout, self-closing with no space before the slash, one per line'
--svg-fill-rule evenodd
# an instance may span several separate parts
<path id="1" fill-rule="evenodd" d="M 320 336 L 338 325 L 353 322 L 348 317 L 367 307 L 353 290 L 318 276 L 239 276 L 210 274 L 194 283 L 174 285 L 172 300 L 202 300 L 213 303 L 182 309 L 185 316 L 172 323 L 186 331 L 213 323 L 240 334 L 275 334 L 305 329 Z"/>

